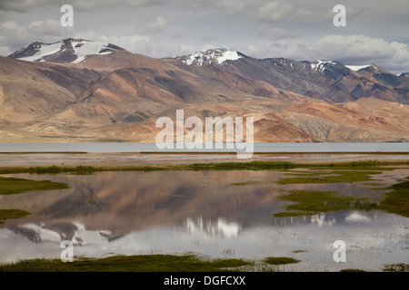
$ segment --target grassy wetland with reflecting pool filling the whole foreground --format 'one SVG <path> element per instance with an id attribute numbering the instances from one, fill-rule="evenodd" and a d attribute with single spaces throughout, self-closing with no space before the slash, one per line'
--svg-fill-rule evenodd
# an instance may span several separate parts
<path id="1" fill-rule="evenodd" d="M 3 270 L 18 261 L 25 271 L 27 265 L 62 265 L 63 240 L 73 242 L 76 257 L 67 271 L 86 263 L 105 265 L 105 259 L 119 263 L 119 257 L 134 266 L 116 270 L 135 271 L 141 270 L 135 266 L 138 257 L 168 261 L 170 256 L 185 265 L 181 271 L 195 271 L 186 266 L 190 259 L 214 263 L 198 268 L 209 271 L 229 264 L 236 270 L 270 271 L 277 257 L 294 261 L 279 268 L 285 271 L 406 270 L 409 264 L 406 161 L 0 172 Z M 333 260 L 339 239 L 346 243 L 345 263 Z M 149 271 L 169 269 L 152 265 Z"/>

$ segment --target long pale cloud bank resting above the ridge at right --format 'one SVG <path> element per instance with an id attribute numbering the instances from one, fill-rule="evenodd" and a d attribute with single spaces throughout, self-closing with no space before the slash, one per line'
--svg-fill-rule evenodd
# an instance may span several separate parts
<path id="1" fill-rule="evenodd" d="M 280 29 L 276 33 L 285 34 Z M 264 46 L 242 45 L 239 50 L 257 58 L 286 57 L 298 61 L 333 60 L 345 65 L 374 63 L 392 73 L 409 72 L 409 45 L 360 34 L 324 35 L 319 39 L 283 38 Z"/>

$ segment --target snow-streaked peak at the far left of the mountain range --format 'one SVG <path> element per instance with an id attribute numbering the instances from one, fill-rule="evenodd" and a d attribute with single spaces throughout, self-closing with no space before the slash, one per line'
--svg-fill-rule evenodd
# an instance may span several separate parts
<path id="1" fill-rule="evenodd" d="M 89 55 L 124 51 L 111 43 L 68 38 L 56 43 L 31 43 L 8 57 L 26 62 L 81 63 Z"/>

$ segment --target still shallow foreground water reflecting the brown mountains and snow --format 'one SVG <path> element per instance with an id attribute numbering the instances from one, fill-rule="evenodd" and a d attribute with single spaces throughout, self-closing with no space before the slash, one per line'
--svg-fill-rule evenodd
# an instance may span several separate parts
<path id="1" fill-rule="evenodd" d="M 288 271 L 379 271 L 409 263 L 409 218 L 382 211 L 328 212 L 274 218 L 291 189 L 335 190 L 382 198 L 385 186 L 409 175 L 385 171 L 379 181 L 277 185 L 276 170 L 99 172 L 93 175 L 7 175 L 65 182 L 70 189 L 0 196 L 0 208 L 32 214 L 0 228 L 0 262 L 59 258 L 63 240 L 75 256 L 185 254 L 263 259 L 292 256 Z M 234 185 L 252 181 L 247 185 Z M 334 241 L 346 243 L 346 262 L 335 263 Z M 294 253 L 293 251 L 299 251 Z"/>

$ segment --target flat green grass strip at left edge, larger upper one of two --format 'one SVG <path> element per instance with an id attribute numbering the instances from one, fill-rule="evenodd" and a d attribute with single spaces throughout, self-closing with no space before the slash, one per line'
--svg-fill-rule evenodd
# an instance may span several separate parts
<path id="1" fill-rule="evenodd" d="M 65 183 L 50 180 L 30 180 L 0 177 L 0 195 L 17 194 L 30 190 L 69 189 Z"/>

